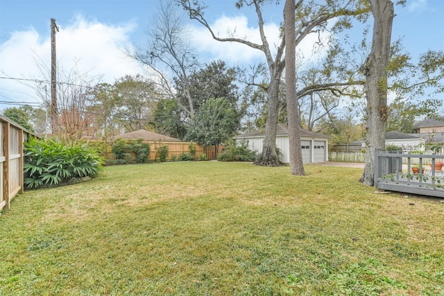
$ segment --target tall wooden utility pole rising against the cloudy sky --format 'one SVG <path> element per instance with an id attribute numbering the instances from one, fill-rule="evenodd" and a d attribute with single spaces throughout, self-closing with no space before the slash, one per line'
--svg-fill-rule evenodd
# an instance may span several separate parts
<path id="1" fill-rule="evenodd" d="M 56 57 L 56 19 L 51 19 L 51 129 L 57 132 L 57 57 Z"/>

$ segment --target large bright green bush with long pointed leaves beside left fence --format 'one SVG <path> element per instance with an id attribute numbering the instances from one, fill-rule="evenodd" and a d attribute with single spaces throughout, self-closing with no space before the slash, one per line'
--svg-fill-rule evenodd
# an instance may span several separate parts
<path id="1" fill-rule="evenodd" d="M 87 145 L 67 146 L 51 139 L 32 138 L 24 143 L 24 184 L 30 188 L 79 182 L 103 169 L 103 158 Z"/>

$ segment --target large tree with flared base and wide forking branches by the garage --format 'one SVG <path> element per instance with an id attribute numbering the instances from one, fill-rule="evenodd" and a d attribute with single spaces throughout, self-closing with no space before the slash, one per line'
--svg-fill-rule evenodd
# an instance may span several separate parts
<path id="1" fill-rule="evenodd" d="M 252 49 L 257 49 L 264 53 L 266 64 L 268 66 L 268 83 L 257 84 L 258 87 L 264 88 L 268 94 L 267 102 L 267 119 L 265 127 L 265 137 L 263 143 L 262 155 L 258 158 L 256 164 L 262 166 L 279 166 L 280 161 L 276 155 L 275 140 L 278 126 L 278 117 L 280 112 L 281 101 L 279 99 L 280 78 L 285 67 L 284 47 L 285 38 L 282 36 L 280 44 L 277 45 L 275 54 L 271 51 L 271 46 L 268 44 L 267 37 L 264 32 L 264 19 L 262 17 L 262 9 L 267 0 L 237 0 L 236 6 L 253 6 L 257 15 L 257 24 L 259 26 L 259 34 L 261 38 L 260 43 L 250 42 L 249 40 L 239 37 L 219 37 L 211 28 L 207 19 L 204 17 L 205 6 L 198 0 L 176 0 L 180 2 L 185 10 L 189 12 L 189 17 L 195 19 L 200 24 L 205 26 L 210 32 L 214 40 L 220 42 L 237 42 L 249 46 Z M 327 21 L 336 19 L 338 24 L 346 22 L 347 19 L 341 17 L 350 17 L 354 15 L 361 15 L 366 12 L 365 8 L 360 7 L 361 3 L 348 0 L 332 0 L 327 1 L 325 5 L 319 5 L 312 1 L 298 0 L 296 3 L 296 42 L 298 46 L 302 40 L 310 34 L 319 34 L 324 31 L 327 26 Z M 305 5 L 304 5 L 305 4 Z M 359 7 L 358 7 L 359 6 Z M 321 42 L 321 40 L 320 40 Z"/>

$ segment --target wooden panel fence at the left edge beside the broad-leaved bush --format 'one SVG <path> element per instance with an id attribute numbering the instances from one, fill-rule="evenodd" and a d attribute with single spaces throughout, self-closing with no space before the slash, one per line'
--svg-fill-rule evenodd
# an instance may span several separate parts
<path id="1" fill-rule="evenodd" d="M 0 116 L 0 211 L 9 209 L 17 193 L 23 192 L 23 142 L 28 132 L 9 119 Z"/>

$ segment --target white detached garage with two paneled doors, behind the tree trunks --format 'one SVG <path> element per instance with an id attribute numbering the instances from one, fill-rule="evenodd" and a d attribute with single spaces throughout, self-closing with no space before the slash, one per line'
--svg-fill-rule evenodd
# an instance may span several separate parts
<path id="1" fill-rule="evenodd" d="M 262 153 L 262 142 L 264 141 L 265 130 L 255 130 L 246 134 L 239 134 L 233 137 L 238 143 L 244 141 L 250 150 Z M 304 164 L 310 162 L 327 162 L 328 161 L 328 138 L 329 136 L 319 132 L 310 132 L 301 130 L 300 146 L 302 148 L 302 160 Z M 289 158 L 289 128 L 286 125 L 278 124 L 278 132 L 276 132 L 276 147 L 282 153 L 281 161 L 290 162 Z"/>

